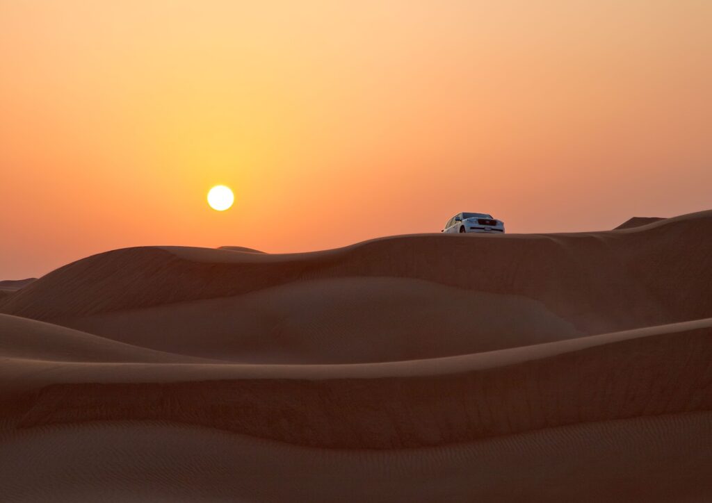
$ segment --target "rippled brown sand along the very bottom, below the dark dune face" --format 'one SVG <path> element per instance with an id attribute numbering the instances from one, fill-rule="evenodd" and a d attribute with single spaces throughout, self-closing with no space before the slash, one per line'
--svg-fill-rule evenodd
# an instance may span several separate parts
<path id="1" fill-rule="evenodd" d="M 700 502 L 712 492 L 711 418 L 661 415 L 380 452 L 163 422 L 0 425 L 0 492 L 53 502 Z"/>

